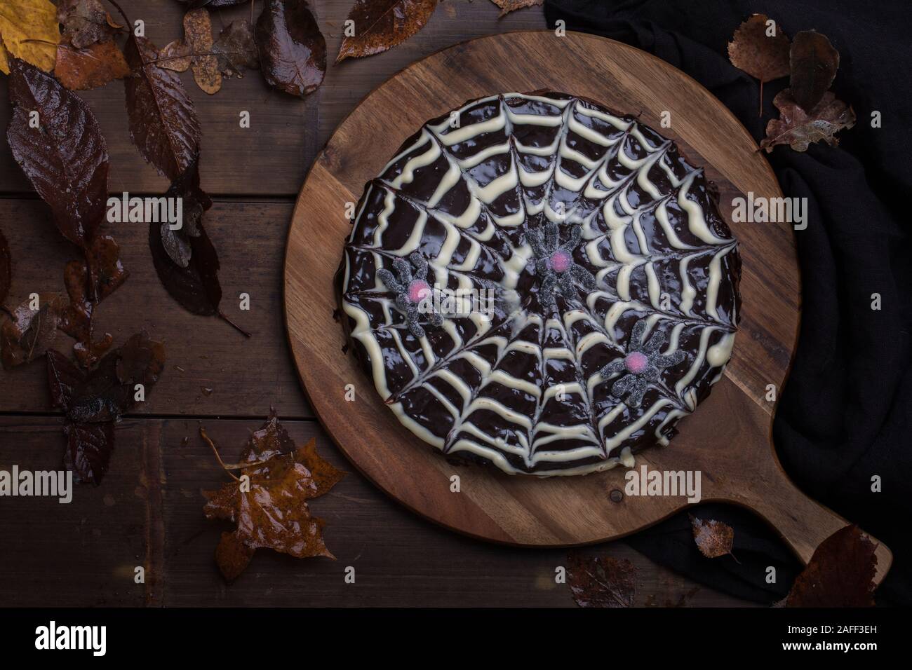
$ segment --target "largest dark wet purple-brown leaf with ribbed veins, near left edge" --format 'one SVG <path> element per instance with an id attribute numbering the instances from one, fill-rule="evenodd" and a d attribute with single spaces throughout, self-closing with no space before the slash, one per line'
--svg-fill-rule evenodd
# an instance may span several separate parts
<path id="1" fill-rule="evenodd" d="M 98 121 L 81 98 L 37 67 L 13 59 L 10 70 L 15 109 L 6 138 L 13 157 L 50 205 L 59 231 L 86 250 L 108 201 L 108 147 Z"/>

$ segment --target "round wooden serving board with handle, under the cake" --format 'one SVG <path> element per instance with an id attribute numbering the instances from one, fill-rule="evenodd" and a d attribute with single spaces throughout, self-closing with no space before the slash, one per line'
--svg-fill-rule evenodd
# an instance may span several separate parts
<path id="1" fill-rule="evenodd" d="M 547 88 L 639 115 L 704 165 L 723 216 L 741 242 L 740 332 L 725 376 L 684 418 L 668 448 L 637 456 L 637 469 L 700 470 L 702 499 L 760 514 L 806 562 L 845 520 L 785 476 L 772 449 L 774 403 L 798 333 L 800 278 L 793 232 L 784 223 L 731 222 L 732 198 L 782 196 L 748 132 L 719 100 L 674 67 L 612 40 L 551 31 L 483 37 L 406 67 L 374 90 L 317 155 L 298 197 L 285 255 L 285 319 L 295 363 L 317 417 L 347 458 L 380 489 L 454 531 L 518 545 L 612 540 L 688 506 L 683 497 L 633 497 L 625 469 L 537 479 L 452 463 L 399 424 L 372 382 L 343 353 L 333 317 L 333 275 L 357 202 L 399 145 L 428 119 L 471 98 Z M 662 128 L 663 111 L 670 128 Z M 345 399 L 347 385 L 356 390 Z M 460 491 L 451 491 L 459 475 Z M 617 501 L 616 501 L 617 500 Z M 891 554 L 877 551 L 878 579 Z"/>

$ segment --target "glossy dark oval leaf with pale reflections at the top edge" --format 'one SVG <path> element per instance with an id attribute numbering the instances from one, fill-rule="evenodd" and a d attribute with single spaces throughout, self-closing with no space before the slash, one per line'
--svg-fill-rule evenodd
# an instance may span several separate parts
<path id="1" fill-rule="evenodd" d="M 305 0 L 267 0 L 256 21 L 266 83 L 304 98 L 323 83 L 326 40 Z"/>

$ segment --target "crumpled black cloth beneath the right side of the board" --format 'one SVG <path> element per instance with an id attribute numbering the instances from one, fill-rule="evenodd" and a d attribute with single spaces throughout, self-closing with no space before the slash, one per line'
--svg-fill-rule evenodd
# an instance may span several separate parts
<path id="1" fill-rule="evenodd" d="M 824 33 L 841 57 L 834 93 L 855 108 L 838 148 L 778 147 L 768 160 L 789 197 L 807 198 L 808 227 L 795 232 L 802 270 L 801 333 L 773 436 L 782 465 L 812 496 L 884 541 L 894 565 L 878 603 L 912 603 L 912 7 L 858 0 L 546 0 L 549 26 L 611 37 L 668 61 L 719 98 L 754 139 L 778 114 L 773 96 L 729 63 L 735 28 L 754 13 L 789 36 Z M 605 82 L 611 86 L 610 81 Z M 872 112 L 882 127 L 872 128 Z M 698 148 L 699 149 L 699 148 Z M 881 309 L 872 310 L 872 294 Z M 672 443 L 673 448 L 674 443 Z M 872 492 L 871 478 L 882 479 Z M 679 514 L 628 541 L 690 577 L 758 602 L 784 596 L 800 566 L 765 524 L 744 510 L 690 510 L 735 529 L 734 555 L 702 559 Z M 765 566 L 779 567 L 766 584 Z"/>

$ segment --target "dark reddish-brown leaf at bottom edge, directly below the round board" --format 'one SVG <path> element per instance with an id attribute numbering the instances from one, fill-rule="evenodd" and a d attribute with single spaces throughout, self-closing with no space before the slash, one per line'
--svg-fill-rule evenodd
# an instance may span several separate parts
<path id="1" fill-rule="evenodd" d="M 633 607 L 637 596 L 637 569 L 627 559 L 567 555 L 567 582 L 580 607 Z"/>

